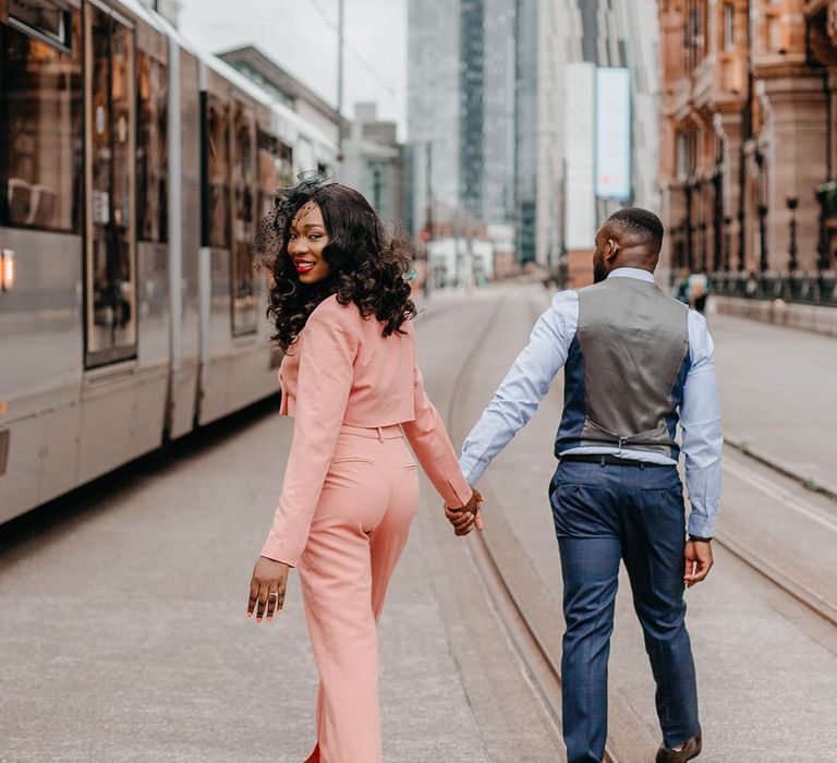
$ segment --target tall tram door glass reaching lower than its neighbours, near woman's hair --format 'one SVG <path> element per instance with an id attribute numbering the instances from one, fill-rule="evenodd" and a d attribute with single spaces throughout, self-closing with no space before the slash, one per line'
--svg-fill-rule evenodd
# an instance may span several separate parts
<path id="1" fill-rule="evenodd" d="M 233 116 L 234 228 L 232 249 L 232 331 L 256 330 L 255 258 L 256 167 L 253 114 L 241 104 Z"/>

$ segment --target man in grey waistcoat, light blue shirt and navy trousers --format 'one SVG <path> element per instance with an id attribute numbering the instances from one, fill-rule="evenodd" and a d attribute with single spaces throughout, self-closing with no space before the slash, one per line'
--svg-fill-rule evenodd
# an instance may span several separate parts
<path id="1" fill-rule="evenodd" d="M 529 421 L 565 366 L 565 409 L 549 485 L 563 574 L 563 736 L 569 763 L 601 761 L 619 561 L 657 685 L 658 763 L 701 752 L 684 585 L 712 567 L 721 435 L 704 318 L 652 277 L 663 225 L 621 209 L 596 233 L 596 283 L 555 295 L 460 459 L 473 485 Z M 678 411 L 691 502 L 689 540 L 675 441 Z M 448 509 L 458 534 L 480 512 Z"/>

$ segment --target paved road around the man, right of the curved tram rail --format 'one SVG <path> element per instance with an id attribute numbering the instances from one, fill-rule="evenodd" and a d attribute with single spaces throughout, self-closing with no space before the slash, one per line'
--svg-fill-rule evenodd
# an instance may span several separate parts
<path id="1" fill-rule="evenodd" d="M 492 342 L 475 356 L 461 395 L 462 410 L 457 411 L 454 426 L 458 438 L 490 398 L 544 305 L 543 294 L 533 289 L 498 290 L 477 299 L 502 304 Z M 444 300 L 441 295 L 437 300 L 438 308 Z M 450 319 L 452 330 L 452 315 Z M 735 329 L 725 328 L 726 334 Z M 726 358 L 725 332 L 716 334 Z M 725 385 L 731 372 L 726 365 L 721 372 L 728 405 Z M 816 370 L 809 368 L 808 374 L 816 376 Z M 555 469 L 551 446 L 561 395 L 558 378 L 536 416 L 480 485 L 489 499 L 487 540 L 500 558 L 514 565 L 507 573 L 527 581 L 521 589 L 525 604 L 542 627 L 551 627 L 556 649 L 562 628 L 561 579 L 546 486 Z M 765 559 L 834 600 L 837 576 L 829 561 L 837 541 L 834 505 L 735 451 L 727 452 L 725 461 L 719 532 L 737 537 L 743 533 Z M 530 570 L 520 569 L 524 557 L 510 550 L 514 545 L 527 558 Z M 688 593 L 706 739 L 701 760 L 828 760 L 824 755 L 829 754 L 837 717 L 837 631 L 718 546 L 716 562 L 706 583 Z M 659 731 L 651 673 L 624 574 L 620 588 L 610 662 L 611 741 L 622 760 L 632 763 L 651 760 Z"/>

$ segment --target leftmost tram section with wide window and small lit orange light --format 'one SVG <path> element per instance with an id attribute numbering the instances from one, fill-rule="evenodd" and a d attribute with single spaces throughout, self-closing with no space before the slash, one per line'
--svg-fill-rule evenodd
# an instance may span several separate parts
<path id="1" fill-rule="evenodd" d="M 0 521 L 75 480 L 82 22 L 68 13 L 43 31 L 0 16 Z"/>

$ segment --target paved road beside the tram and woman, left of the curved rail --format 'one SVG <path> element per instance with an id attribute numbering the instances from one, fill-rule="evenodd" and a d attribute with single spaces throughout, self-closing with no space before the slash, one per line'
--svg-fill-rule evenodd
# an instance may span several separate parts
<path id="1" fill-rule="evenodd" d="M 424 348 L 442 410 L 470 344 Z M 292 432 L 275 409 L 0 533 L 0 761 L 307 754 L 316 671 L 295 579 L 274 627 L 244 617 Z M 465 543 L 425 482 L 380 626 L 385 758 L 558 760 Z"/>

